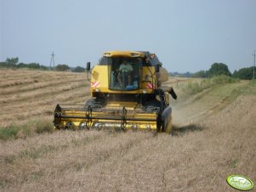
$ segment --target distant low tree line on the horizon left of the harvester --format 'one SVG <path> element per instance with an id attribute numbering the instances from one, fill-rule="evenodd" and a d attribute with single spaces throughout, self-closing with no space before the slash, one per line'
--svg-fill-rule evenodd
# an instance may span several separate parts
<path id="1" fill-rule="evenodd" d="M 20 69 L 20 68 L 29 68 L 29 69 L 36 69 L 36 70 L 44 70 L 44 71 L 72 71 L 72 72 L 85 72 L 85 68 L 81 66 L 77 66 L 74 68 L 69 67 L 65 64 L 56 65 L 53 67 L 48 67 L 45 65 L 39 65 L 38 63 L 19 63 L 19 58 L 7 58 L 4 62 L 0 62 L 0 67 L 3 68 L 13 68 L 13 69 Z"/>

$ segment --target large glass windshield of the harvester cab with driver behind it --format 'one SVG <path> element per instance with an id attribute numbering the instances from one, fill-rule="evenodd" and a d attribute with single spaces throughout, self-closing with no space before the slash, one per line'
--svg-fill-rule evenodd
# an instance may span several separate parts
<path id="1" fill-rule="evenodd" d="M 110 89 L 135 90 L 139 88 L 139 66 L 142 58 L 108 58 Z"/>

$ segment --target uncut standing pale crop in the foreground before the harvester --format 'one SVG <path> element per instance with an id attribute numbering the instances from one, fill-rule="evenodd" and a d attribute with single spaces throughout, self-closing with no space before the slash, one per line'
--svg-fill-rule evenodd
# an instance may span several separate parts
<path id="1" fill-rule="evenodd" d="M 255 101 L 242 96 L 173 136 L 62 131 L 8 142 L 0 147 L 0 189 L 232 191 L 230 174 L 256 179 Z"/>

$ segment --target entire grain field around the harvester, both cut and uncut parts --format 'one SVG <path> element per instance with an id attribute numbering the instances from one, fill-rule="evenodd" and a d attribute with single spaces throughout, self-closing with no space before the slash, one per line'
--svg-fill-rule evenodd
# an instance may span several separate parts
<path id="1" fill-rule="evenodd" d="M 255 184 L 256 82 L 218 81 L 169 78 L 171 135 L 54 131 L 56 104 L 88 99 L 86 74 L 1 69 L 0 191 L 237 191 L 231 174 Z"/>

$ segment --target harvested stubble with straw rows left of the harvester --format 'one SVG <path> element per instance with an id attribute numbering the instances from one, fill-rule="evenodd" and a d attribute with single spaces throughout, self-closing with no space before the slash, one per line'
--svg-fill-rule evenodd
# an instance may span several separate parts
<path id="1" fill-rule="evenodd" d="M 56 104 L 83 104 L 88 96 L 84 74 L 1 69 L 0 127 L 52 118 Z"/>

